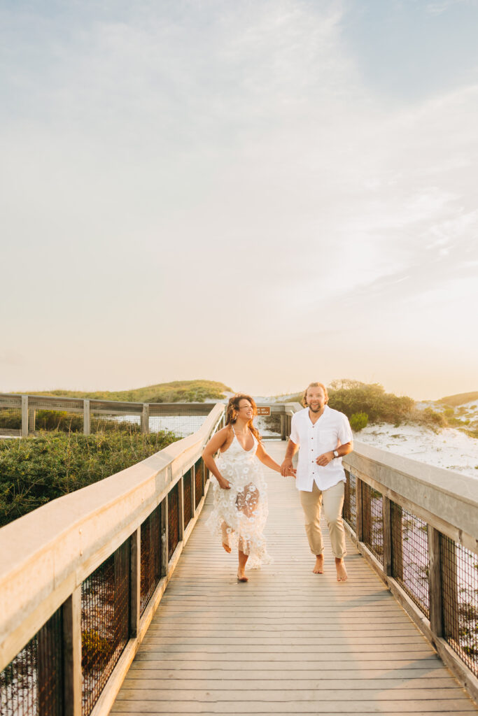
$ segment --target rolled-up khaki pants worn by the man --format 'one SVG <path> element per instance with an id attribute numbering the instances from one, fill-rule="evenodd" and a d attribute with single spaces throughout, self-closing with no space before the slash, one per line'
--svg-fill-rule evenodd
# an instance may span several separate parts
<path id="1" fill-rule="evenodd" d="M 322 554 L 324 545 L 322 542 L 322 531 L 320 530 L 320 509 L 324 505 L 325 519 L 327 520 L 330 543 L 334 557 L 343 557 L 347 553 L 345 549 L 345 531 L 342 521 L 342 505 L 344 495 L 344 483 L 340 481 L 328 490 L 319 490 L 314 481 L 312 492 L 300 490 L 300 504 L 304 511 L 305 533 L 310 544 L 312 554 Z"/>

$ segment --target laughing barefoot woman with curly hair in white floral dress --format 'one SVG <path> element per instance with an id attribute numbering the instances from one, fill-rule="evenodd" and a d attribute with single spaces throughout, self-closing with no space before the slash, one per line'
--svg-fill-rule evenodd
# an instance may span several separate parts
<path id="1" fill-rule="evenodd" d="M 213 486 L 214 508 L 208 520 L 212 533 L 219 536 L 226 552 L 239 550 L 238 581 L 248 581 L 244 574 L 272 559 L 262 536 L 268 509 L 267 485 L 259 460 L 280 473 L 280 465 L 267 455 L 252 420 L 257 407 L 250 395 L 231 397 L 226 411 L 226 427 L 216 432 L 204 448 L 206 468 L 216 478 Z M 217 463 L 214 455 L 219 451 Z"/>

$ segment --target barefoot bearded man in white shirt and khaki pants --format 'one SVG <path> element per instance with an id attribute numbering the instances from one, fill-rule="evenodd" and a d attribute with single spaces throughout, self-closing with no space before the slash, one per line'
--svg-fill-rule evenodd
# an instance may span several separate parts
<path id="1" fill-rule="evenodd" d="M 342 521 L 345 473 L 343 455 L 353 450 L 352 430 L 343 412 L 327 405 L 327 388 L 322 383 L 310 383 L 302 398 L 304 410 L 292 416 L 290 440 L 287 445 L 282 475 L 295 473 L 296 487 L 305 516 L 305 532 L 310 550 L 315 554 L 314 574 L 324 571 L 320 510 L 324 508 L 330 532 L 337 581 L 347 580 L 345 531 Z M 292 458 L 299 450 L 297 470 Z"/>

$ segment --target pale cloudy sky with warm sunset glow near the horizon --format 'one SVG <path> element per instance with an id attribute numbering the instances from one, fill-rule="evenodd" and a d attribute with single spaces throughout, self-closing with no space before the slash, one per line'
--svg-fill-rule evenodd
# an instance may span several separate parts
<path id="1" fill-rule="evenodd" d="M 0 392 L 478 390 L 478 0 L 2 0 Z"/>

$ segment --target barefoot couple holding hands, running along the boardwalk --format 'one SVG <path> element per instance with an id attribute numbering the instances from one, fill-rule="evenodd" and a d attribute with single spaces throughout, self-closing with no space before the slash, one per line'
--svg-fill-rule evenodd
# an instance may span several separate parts
<path id="1" fill-rule="evenodd" d="M 304 410 L 292 416 L 290 440 L 282 465 L 267 455 L 253 419 L 257 407 L 249 395 L 231 397 L 226 427 L 216 432 L 204 448 L 204 465 L 214 480 L 214 507 L 208 525 L 219 536 L 226 552 L 239 551 L 237 579 L 248 581 L 246 563 L 269 563 L 263 536 L 267 520 L 267 484 L 262 465 L 284 477 L 295 478 L 304 511 L 305 531 L 315 554 L 314 574 L 323 572 L 320 511 L 323 507 L 335 556 L 337 580 L 346 581 L 345 532 L 342 521 L 345 473 L 341 458 L 353 450 L 348 418 L 328 407 L 322 383 L 310 383 L 302 398 Z M 292 458 L 299 451 L 297 469 Z M 214 455 L 219 453 L 215 459 Z"/>

